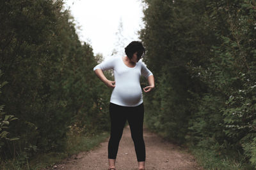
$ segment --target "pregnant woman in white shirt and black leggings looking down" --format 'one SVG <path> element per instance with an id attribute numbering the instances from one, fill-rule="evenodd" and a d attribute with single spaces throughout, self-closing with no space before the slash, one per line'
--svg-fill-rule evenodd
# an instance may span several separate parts
<path id="1" fill-rule="evenodd" d="M 124 125 L 128 120 L 140 170 L 145 169 L 145 143 L 143 139 L 144 106 L 140 76 L 147 78 L 149 86 L 144 92 L 154 89 L 154 76 L 140 59 L 145 48 L 140 41 L 132 41 L 125 47 L 125 57 L 113 57 L 93 68 L 95 74 L 113 89 L 109 104 L 111 133 L 108 143 L 109 170 L 115 170 L 115 160 Z M 115 81 L 108 80 L 102 71 L 113 69 Z"/>

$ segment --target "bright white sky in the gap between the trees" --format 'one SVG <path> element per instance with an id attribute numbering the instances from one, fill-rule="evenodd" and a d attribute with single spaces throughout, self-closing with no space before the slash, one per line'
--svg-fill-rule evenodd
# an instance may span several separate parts
<path id="1" fill-rule="evenodd" d="M 116 48 L 116 32 L 123 24 L 124 47 L 138 39 L 144 27 L 141 0 L 65 0 L 66 8 L 76 20 L 77 34 L 81 41 L 90 43 L 93 53 L 109 57 Z M 80 27 L 80 29 L 78 29 Z"/>

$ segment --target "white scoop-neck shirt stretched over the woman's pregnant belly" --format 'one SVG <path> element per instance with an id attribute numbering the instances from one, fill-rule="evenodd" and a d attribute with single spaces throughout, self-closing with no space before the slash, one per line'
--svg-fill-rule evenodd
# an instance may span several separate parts
<path id="1" fill-rule="evenodd" d="M 122 57 L 112 57 L 93 68 L 102 71 L 113 69 L 115 76 L 115 88 L 111 94 L 110 102 L 120 106 L 138 106 L 143 103 L 140 86 L 141 74 L 148 78 L 153 75 L 143 62 L 136 62 L 136 66 L 128 67 Z"/>

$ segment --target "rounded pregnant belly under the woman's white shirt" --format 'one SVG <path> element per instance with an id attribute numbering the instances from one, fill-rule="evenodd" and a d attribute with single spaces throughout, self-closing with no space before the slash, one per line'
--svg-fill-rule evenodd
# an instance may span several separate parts
<path id="1" fill-rule="evenodd" d="M 141 87 L 140 85 L 116 85 L 112 96 L 127 105 L 137 104 L 142 97 Z"/>

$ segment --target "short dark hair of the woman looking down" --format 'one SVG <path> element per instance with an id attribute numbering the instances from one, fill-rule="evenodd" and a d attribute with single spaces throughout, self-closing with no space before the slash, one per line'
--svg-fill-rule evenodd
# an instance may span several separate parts
<path id="1" fill-rule="evenodd" d="M 145 53 L 145 48 L 140 41 L 132 41 L 125 48 L 125 54 L 129 59 L 132 59 L 134 53 L 137 52 L 137 56 L 141 57 Z"/>

